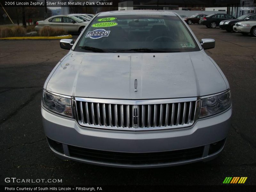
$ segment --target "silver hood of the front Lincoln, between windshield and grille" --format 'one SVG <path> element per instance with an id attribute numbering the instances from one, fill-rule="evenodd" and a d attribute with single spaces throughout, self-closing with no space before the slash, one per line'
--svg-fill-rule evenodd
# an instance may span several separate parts
<path id="1" fill-rule="evenodd" d="M 137 92 L 134 92 L 135 79 Z M 51 92 L 108 99 L 197 97 L 225 91 L 228 86 L 219 67 L 203 50 L 180 53 L 70 51 L 47 80 L 44 87 Z"/>

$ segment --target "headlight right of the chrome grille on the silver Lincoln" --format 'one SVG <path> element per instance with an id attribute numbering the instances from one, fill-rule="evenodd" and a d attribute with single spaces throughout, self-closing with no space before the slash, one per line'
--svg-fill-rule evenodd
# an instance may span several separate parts
<path id="1" fill-rule="evenodd" d="M 200 116 L 206 117 L 216 115 L 230 108 L 231 94 L 230 91 L 201 99 Z"/>

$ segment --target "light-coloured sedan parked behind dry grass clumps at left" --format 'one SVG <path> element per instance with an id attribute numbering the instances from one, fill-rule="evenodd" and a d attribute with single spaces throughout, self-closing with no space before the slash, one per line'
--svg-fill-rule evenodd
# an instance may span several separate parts
<path id="1" fill-rule="evenodd" d="M 49 26 L 52 28 L 62 28 L 68 32 L 81 33 L 88 23 L 88 21 L 80 20 L 75 16 L 56 15 L 44 21 L 37 21 L 35 30 L 39 31 L 41 28 Z"/>

